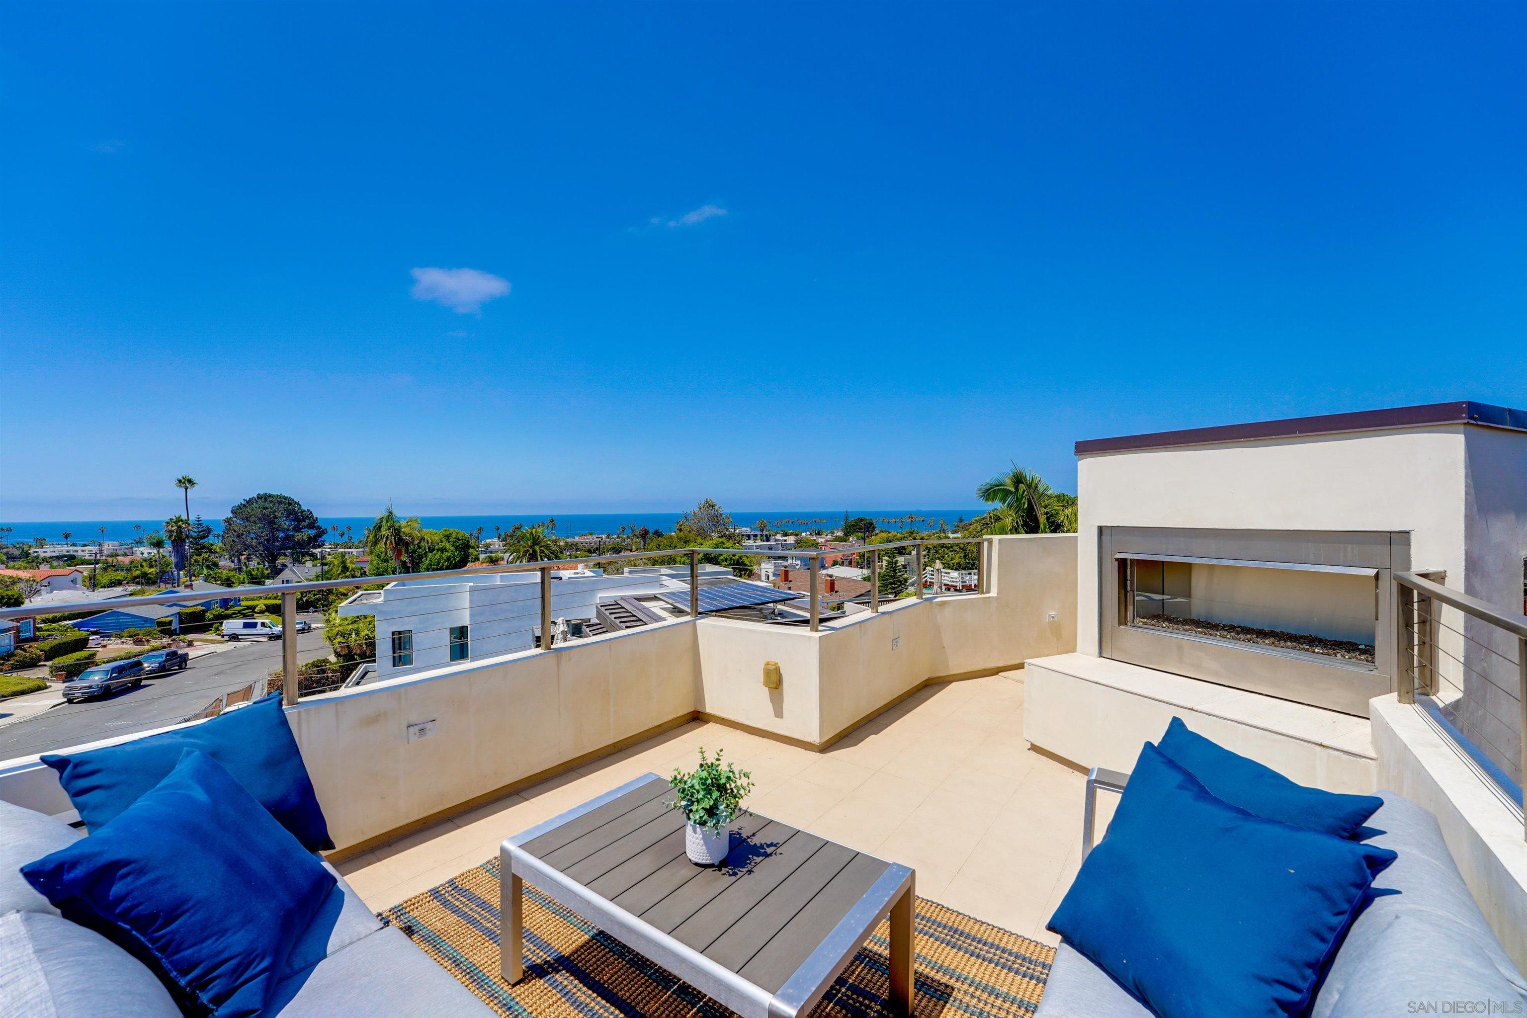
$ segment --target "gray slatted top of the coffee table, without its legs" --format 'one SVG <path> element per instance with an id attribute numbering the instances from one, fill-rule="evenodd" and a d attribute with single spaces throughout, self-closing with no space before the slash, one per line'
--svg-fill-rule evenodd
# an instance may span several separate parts
<path id="1" fill-rule="evenodd" d="M 817 971 L 835 975 L 846 965 L 858 943 L 834 942 L 828 946 L 841 958 L 825 960 L 825 942 L 854 925 L 851 913 L 863 919 L 855 907 L 863 910 L 872 888 L 884 896 L 904 879 L 910 894 L 906 867 L 757 815 L 733 824 L 725 864 L 695 865 L 684 855 L 684 817 L 669 797 L 664 778 L 646 775 L 512 838 L 505 861 L 513 853 L 513 876 L 538 887 L 538 876 L 554 870 L 563 891 L 573 884 L 618 910 L 617 919 L 635 920 L 625 923 L 628 933 L 666 934 L 776 997 L 793 977 L 811 981 Z M 770 1013 L 779 1012 L 771 1006 Z"/>

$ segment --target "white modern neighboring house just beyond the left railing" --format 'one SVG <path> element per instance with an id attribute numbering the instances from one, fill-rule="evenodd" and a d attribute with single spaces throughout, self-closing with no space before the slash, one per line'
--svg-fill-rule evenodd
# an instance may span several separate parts
<path id="1" fill-rule="evenodd" d="M 736 578 L 725 566 L 702 565 L 699 581 L 713 586 Z M 376 681 L 380 681 L 469 656 L 530 650 L 541 626 L 539 583 L 536 572 L 399 580 L 353 595 L 339 606 L 339 614 L 376 617 Z M 599 569 L 554 571 L 551 618 L 592 621 L 602 603 L 687 586 L 689 566 L 638 566 L 620 575 Z"/>

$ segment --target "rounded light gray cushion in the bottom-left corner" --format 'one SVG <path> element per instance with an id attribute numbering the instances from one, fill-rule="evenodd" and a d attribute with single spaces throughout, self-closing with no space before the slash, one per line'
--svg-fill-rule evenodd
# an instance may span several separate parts
<path id="1" fill-rule="evenodd" d="M 180 1018 L 153 972 L 98 933 L 38 911 L 0 916 L 0 1015 Z"/>

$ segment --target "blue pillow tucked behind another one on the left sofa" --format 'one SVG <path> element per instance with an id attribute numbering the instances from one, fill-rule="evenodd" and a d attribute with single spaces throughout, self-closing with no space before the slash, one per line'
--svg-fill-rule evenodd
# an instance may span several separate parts
<path id="1" fill-rule="evenodd" d="M 43 763 L 58 771 L 58 783 L 95 832 L 159 784 L 186 749 L 221 763 L 308 852 L 334 847 L 278 693 L 200 725 L 72 755 L 47 754 Z"/>

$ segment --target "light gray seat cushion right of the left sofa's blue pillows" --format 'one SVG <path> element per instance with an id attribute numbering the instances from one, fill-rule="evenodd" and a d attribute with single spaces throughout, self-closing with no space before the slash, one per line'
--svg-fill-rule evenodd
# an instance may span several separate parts
<path id="1" fill-rule="evenodd" d="M 269 1009 L 269 1015 L 281 1018 L 487 1018 L 492 1013 L 391 926 L 286 980 Z"/>

